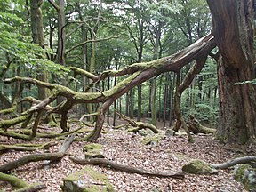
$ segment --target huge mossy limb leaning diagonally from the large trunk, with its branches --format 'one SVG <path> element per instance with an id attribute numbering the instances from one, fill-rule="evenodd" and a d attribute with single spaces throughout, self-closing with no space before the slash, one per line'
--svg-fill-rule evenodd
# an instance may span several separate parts
<path id="1" fill-rule="evenodd" d="M 85 140 L 96 140 L 100 136 L 105 119 L 105 113 L 109 106 L 117 98 L 121 97 L 124 95 L 124 93 L 128 92 L 138 84 L 148 81 L 154 76 L 158 76 L 167 71 L 179 71 L 180 68 L 187 65 L 192 60 L 198 60 L 202 55 L 209 53 L 214 47 L 215 42 L 212 35 L 207 35 L 196 41 L 195 44 L 191 44 L 186 49 L 159 60 L 153 60 L 145 63 L 135 63 L 119 70 L 104 71 L 99 76 L 91 76 L 89 74 L 89 76 L 92 78 L 92 84 L 98 84 L 100 81 L 109 76 L 117 77 L 130 75 L 111 89 L 104 92 L 75 92 L 68 87 L 59 84 L 49 84 L 36 79 L 17 76 L 11 79 L 5 79 L 4 82 L 9 84 L 13 82 L 20 82 L 21 84 L 36 84 L 51 90 L 52 96 L 43 100 L 35 107 L 30 108 L 28 113 L 36 112 L 42 108 L 45 108 L 45 106 L 55 100 L 57 96 L 65 97 L 67 99 L 68 106 L 61 105 L 59 108 L 60 114 L 62 113 L 61 128 L 64 132 L 66 132 L 68 129 L 66 124 L 67 112 L 70 110 L 70 108 L 72 108 L 73 105 L 77 103 L 102 103 L 102 107 L 98 109 L 99 116 L 97 116 L 95 128 L 93 132 L 91 132 L 85 138 Z"/>

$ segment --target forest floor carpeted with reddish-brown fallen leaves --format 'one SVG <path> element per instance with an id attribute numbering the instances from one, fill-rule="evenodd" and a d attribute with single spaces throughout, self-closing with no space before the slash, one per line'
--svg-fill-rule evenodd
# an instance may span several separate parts
<path id="1" fill-rule="evenodd" d="M 72 129 L 76 129 L 72 125 Z M 49 132 L 40 129 L 40 132 Z M 59 131 L 60 129 L 55 131 Z M 114 130 L 106 126 L 104 130 L 107 133 L 101 134 L 96 140 L 103 145 L 104 156 L 118 164 L 132 165 L 155 171 L 180 171 L 183 164 L 188 163 L 191 159 L 201 159 L 205 162 L 218 164 L 223 163 L 231 158 L 245 155 L 256 155 L 255 146 L 229 146 L 215 140 L 212 135 L 198 134 L 195 135 L 196 142 L 188 143 L 187 135 L 182 132 L 178 136 L 164 136 L 159 143 L 154 145 L 144 145 L 141 140 L 144 136 L 139 133 L 127 132 L 125 129 Z M 51 128 L 52 131 L 52 128 Z M 147 131 L 151 134 L 150 131 Z M 164 130 L 161 131 L 164 135 Z M 26 143 L 38 142 L 43 143 L 47 140 L 26 141 Z M 0 144 L 24 143 L 22 140 L 10 139 L 0 136 Z M 84 158 L 82 149 L 86 142 L 73 142 L 68 149 L 68 154 Z M 42 152 L 56 152 L 60 148 L 61 141 L 48 151 L 40 150 L 34 152 L 8 152 L 0 157 L 0 165 L 16 160 L 21 156 Z M 76 172 L 84 166 L 74 164 L 68 156 L 64 156 L 60 163 L 45 166 L 48 161 L 29 163 L 23 165 L 12 174 L 28 183 L 43 182 L 47 188 L 44 191 L 61 191 L 61 179 L 68 176 L 71 172 Z M 242 184 L 233 179 L 231 170 L 220 170 L 214 175 L 192 175 L 186 174 L 184 180 L 171 178 L 158 178 L 141 176 L 126 172 L 117 172 L 108 168 L 90 165 L 94 170 L 98 170 L 108 176 L 108 179 L 116 191 L 215 191 L 215 192 L 241 192 L 246 191 Z M 12 191 L 11 185 L 0 181 L 0 191 Z"/>

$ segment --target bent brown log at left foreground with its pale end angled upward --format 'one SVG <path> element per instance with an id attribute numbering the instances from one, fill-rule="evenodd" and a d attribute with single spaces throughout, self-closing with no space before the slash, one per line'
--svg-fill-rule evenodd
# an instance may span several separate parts
<path id="1" fill-rule="evenodd" d="M 7 164 L 3 164 L 0 166 L 0 172 L 10 172 L 13 169 L 16 169 L 30 162 L 37 162 L 37 161 L 43 161 L 43 160 L 50 160 L 54 162 L 59 161 L 65 155 L 66 151 L 68 150 L 68 148 L 70 147 L 74 139 L 75 139 L 75 134 L 68 136 L 67 139 L 64 140 L 59 151 L 56 153 L 31 154 L 28 156 L 23 156 L 20 159 L 9 162 Z"/>

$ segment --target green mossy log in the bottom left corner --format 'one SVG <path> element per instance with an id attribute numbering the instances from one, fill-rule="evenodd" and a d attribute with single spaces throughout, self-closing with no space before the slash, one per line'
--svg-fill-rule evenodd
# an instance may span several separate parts
<path id="1" fill-rule="evenodd" d="M 42 183 L 28 184 L 28 182 L 20 180 L 14 175 L 5 174 L 3 172 L 0 172 L 0 180 L 10 183 L 14 188 L 19 188 L 15 192 L 37 191 L 39 189 L 46 188 L 46 186 Z"/>

